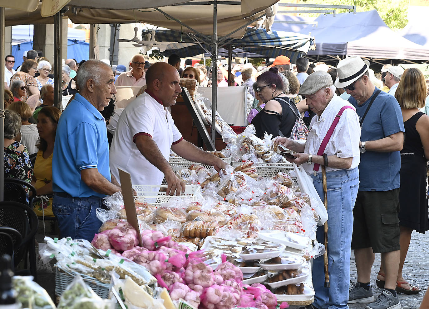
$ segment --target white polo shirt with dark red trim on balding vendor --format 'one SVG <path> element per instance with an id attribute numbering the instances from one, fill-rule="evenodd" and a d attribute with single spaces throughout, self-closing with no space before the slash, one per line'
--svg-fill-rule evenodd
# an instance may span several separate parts
<path id="1" fill-rule="evenodd" d="M 151 137 L 167 161 L 171 146 L 183 140 L 169 111 L 149 93 L 145 90 L 128 104 L 116 126 L 110 146 L 110 170 L 118 182 L 118 168 L 131 174 L 133 184 L 160 185 L 163 181 L 163 172 L 137 149 L 137 136 Z"/>

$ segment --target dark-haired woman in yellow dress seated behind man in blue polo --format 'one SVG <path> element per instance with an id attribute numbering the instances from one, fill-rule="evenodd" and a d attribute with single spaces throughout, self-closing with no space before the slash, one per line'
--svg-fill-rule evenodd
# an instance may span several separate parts
<path id="1" fill-rule="evenodd" d="M 34 162 L 34 176 L 31 184 L 36 188 L 37 195 L 53 194 L 52 191 L 52 152 L 54 151 L 55 134 L 61 112 L 56 107 L 46 106 L 39 110 L 37 115 L 37 143 L 36 161 Z M 34 212 L 38 216 L 53 216 L 52 198 L 49 201 L 34 202 Z"/>

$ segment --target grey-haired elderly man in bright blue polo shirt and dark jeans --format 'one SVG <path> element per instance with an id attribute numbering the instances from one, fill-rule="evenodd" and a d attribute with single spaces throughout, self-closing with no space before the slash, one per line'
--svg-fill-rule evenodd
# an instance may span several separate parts
<path id="1" fill-rule="evenodd" d="M 116 93 L 106 63 L 90 59 L 79 67 L 79 93 L 57 125 L 52 159 L 52 210 L 62 237 L 91 241 L 101 221 L 95 216 L 106 195 L 121 190 L 109 169 L 106 121 L 100 111 Z"/>

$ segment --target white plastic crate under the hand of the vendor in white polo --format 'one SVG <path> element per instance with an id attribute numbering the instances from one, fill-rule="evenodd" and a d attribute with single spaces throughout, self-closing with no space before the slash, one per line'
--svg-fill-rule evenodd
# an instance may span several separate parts
<path id="1" fill-rule="evenodd" d="M 163 204 L 169 202 L 172 197 L 176 198 L 191 198 L 194 202 L 198 202 L 202 199 L 201 187 L 200 186 L 186 186 L 185 192 L 179 196 L 166 195 L 165 191 L 160 191 L 163 188 L 167 188 L 166 185 L 133 185 L 133 189 L 136 190 L 137 195 L 134 196 L 134 200 L 138 202 L 146 202 L 150 204 Z"/>

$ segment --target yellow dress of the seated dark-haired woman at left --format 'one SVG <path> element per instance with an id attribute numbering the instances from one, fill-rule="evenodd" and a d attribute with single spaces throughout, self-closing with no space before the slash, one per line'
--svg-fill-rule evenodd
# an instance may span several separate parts
<path id="1" fill-rule="evenodd" d="M 36 179 L 36 184 L 34 187 L 36 190 L 43 187 L 45 184 L 48 184 L 52 181 L 52 154 L 47 158 L 43 158 L 43 152 L 39 150 L 36 156 L 36 163 L 34 163 L 33 169 L 33 179 Z M 52 198 L 48 202 L 38 201 L 33 205 L 33 210 L 38 216 L 42 216 L 42 202 L 45 212 L 45 216 L 54 216 L 52 213 Z"/>

